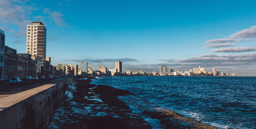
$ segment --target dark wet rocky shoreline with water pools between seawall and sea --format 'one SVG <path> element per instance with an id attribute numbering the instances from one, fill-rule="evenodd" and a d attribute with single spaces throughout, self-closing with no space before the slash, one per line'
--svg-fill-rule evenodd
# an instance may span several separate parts
<path id="1" fill-rule="evenodd" d="M 140 113 L 131 110 L 127 101 L 143 104 L 137 108 L 144 115 L 158 119 L 161 128 L 216 128 L 152 104 L 129 91 L 90 83 L 90 79 L 74 81 L 48 128 L 153 128 Z"/>

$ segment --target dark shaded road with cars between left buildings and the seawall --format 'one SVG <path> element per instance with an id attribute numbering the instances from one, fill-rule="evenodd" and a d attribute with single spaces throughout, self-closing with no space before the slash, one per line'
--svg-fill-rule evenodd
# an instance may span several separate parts
<path id="1" fill-rule="evenodd" d="M 47 84 L 49 82 L 52 82 L 54 80 L 61 80 L 63 78 L 59 79 L 39 79 L 38 81 L 29 81 L 29 80 L 22 80 L 22 84 L 17 85 L 17 84 L 9 84 L 7 81 L 4 82 L 3 84 L 0 84 L 0 95 L 10 95 L 10 94 L 15 94 L 18 92 L 22 92 L 25 90 L 29 90 L 44 84 Z"/>

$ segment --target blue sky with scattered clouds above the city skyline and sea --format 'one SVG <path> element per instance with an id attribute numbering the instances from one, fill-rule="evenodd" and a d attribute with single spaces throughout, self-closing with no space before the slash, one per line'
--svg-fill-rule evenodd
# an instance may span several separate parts
<path id="1" fill-rule="evenodd" d="M 26 24 L 47 28 L 52 64 L 124 70 L 207 70 L 256 75 L 256 1 L 0 2 L 6 45 L 26 53 Z"/>

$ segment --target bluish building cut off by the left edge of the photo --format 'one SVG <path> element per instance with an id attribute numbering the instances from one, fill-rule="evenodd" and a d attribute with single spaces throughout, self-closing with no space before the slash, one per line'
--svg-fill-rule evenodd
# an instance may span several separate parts
<path id="1" fill-rule="evenodd" d="M 5 74 L 5 32 L 0 29 L 0 79 L 4 78 Z"/>

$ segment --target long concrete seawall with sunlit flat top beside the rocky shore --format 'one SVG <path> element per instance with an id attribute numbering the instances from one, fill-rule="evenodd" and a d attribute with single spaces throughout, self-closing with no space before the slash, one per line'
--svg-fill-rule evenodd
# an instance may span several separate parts
<path id="1" fill-rule="evenodd" d="M 0 98 L 1 128 L 46 128 L 73 78 Z"/>

